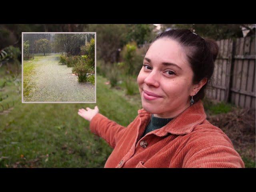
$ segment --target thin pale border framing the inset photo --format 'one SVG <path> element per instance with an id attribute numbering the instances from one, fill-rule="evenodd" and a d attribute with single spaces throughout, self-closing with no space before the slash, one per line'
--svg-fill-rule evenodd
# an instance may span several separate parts
<path id="1" fill-rule="evenodd" d="M 94 34 L 94 38 L 95 38 L 95 58 L 94 58 L 94 100 L 95 102 L 93 101 L 88 101 L 88 102 L 69 102 L 69 101 L 63 101 L 63 102 L 59 102 L 59 101 L 38 101 L 38 102 L 34 102 L 34 101 L 24 101 L 23 100 L 23 34 Z M 97 75 L 97 72 L 96 72 L 96 32 L 22 32 L 22 45 L 21 45 L 21 57 L 22 57 L 22 62 L 21 62 L 21 66 L 22 66 L 22 100 L 21 102 L 22 103 L 96 103 L 96 75 Z"/>

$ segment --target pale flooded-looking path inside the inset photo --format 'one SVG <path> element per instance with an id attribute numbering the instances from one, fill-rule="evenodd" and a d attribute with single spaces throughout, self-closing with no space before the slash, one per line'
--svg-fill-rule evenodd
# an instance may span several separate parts
<path id="1" fill-rule="evenodd" d="M 78 82 L 72 68 L 60 65 L 59 56 L 51 54 L 35 62 L 31 80 L 36 87 L 26 101 L 33 102 L 94 102 L 95 87 L 90 82 Z"/>

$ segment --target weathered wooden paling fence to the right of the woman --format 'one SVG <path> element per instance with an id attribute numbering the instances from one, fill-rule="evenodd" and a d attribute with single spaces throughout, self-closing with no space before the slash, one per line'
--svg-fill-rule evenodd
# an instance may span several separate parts
<path id="1" fill-rule="evenodd" d="M 255 36 L 217 41 L 212 85 L 206 96 L 242 108 L 255 108 Z"/>

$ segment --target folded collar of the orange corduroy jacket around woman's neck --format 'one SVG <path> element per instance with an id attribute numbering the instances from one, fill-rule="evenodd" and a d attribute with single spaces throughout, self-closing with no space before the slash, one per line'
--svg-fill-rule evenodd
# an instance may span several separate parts
<path id="1" fill-rule="evenodd" d="M 146 115 L 148 118 L 151 115 L 143 108 L 138 110 L 138 114 L 140 117 Z M 203 102 L 199 100 L 173 118 L 166 126 L 154 132 L 154 134 L 157 136 L 164 136 L 167 132 L 177 135 L 188 134 L 192 132 L 196 125 L 201 124 L 205 119 L 206 113 L 204 112 Z"/>

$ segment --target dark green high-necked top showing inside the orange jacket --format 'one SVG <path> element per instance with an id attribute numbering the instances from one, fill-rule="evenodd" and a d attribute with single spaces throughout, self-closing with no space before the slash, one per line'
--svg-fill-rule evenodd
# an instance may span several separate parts
<path id="1" fill-rule="evenodd" d="M 148 124 L 148 126 L 146 127 L 144 133 L 142 134 L 141 137 L 144 137 L 147 133 L 154 131 L 156 129 L 159 129 L 163 126 L 165 126 L 166 124 L 168 124 L 168 122 L 170 122 L 170 120 L 172 120 L 173 118 L 159 118 L 159 117 L 154 117 L 154 115 L 151 115 L 151 119 L 150 122 Z"/>

